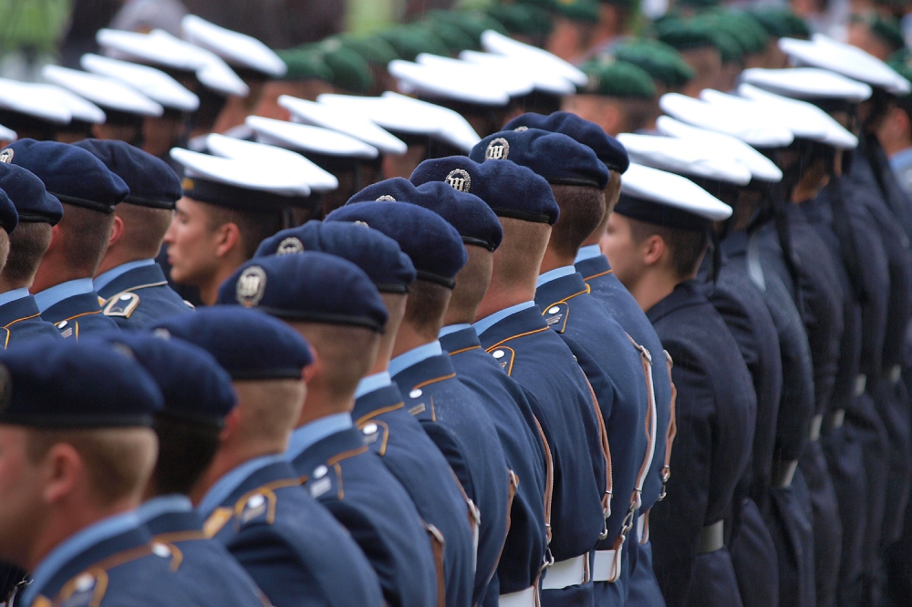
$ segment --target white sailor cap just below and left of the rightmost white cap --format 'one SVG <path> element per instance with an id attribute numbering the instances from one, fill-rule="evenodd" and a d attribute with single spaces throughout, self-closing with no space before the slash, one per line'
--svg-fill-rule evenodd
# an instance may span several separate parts
<path id="1" fill-rule="evenodd" d="M 864 101 L 871 97 L 871 87 L 864 82 L 819 67 L 750 67 L 741 72 L 741 82 L 778 95 L 799 99 L 833 98 Z"/>

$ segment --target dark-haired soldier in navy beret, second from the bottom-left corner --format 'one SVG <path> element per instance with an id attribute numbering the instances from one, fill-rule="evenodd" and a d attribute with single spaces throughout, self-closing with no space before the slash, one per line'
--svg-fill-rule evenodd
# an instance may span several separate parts
<path id="1" fill-rule="evenodd" d="M 202 530 L 188 497 L 219 448 L 234 409 L 231 377 L 209 353 L 150 334 L 110 334 L 106 341 L 132 355 L 155 380 L 164 406 L 153 429 L 159 456 L 136 514 L 152 540 L 180 551 L 175 575 L 200 605 L 263 607 L 253 579 L 228 550 Z"/>

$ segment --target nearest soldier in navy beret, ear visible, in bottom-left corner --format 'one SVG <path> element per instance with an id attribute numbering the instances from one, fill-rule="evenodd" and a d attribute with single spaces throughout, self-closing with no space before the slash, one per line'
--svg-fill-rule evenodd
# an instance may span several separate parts
<path id="1" fill-rule="evenodd" d="M 31 571 L 16 604 L 193 604 L 171 569 L 179 553 L 135 513 L 155 465 L 154 380 L 109 345 L 75 341 L 24 345 L 3 368 L 0 556 Z"/>

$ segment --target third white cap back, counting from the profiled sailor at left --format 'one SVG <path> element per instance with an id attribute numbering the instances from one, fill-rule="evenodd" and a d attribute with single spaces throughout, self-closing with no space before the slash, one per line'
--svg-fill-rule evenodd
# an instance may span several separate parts
<path id="1" fill-rule="evenodd" d="M 257 141 L 266 145 L 343 158 L 375 159 L 379 156 L 377 148 L 337 130 L 262 116 L 248 116 L 245 124 L 254 130 Z"/>

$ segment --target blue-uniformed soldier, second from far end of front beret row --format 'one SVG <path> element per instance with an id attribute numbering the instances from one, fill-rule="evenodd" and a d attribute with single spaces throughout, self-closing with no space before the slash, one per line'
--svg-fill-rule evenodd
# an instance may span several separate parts
<path id="1" fill-rule="evenodd" d="M 586 373 L 605 421 L 612 515 L 607 519 L 607 538 L 596 549 L 592 578 L 597 602 L 623 604 L 624 570 L 629 570 L 629 551 L 623 548 L 651 463 L 655 411 L 651 382 L 644 374 L 650 355 L 588 293 L 573 266 L 580 245 L 605 213 L 608 170 L 592 149 L 539 129 L 495 133 L 472 150 L 472 159 L 488 156 L 499 142 L 506 146 L 503 159 L 548 180 L 561 209 L 544 254 L 535 302 Z"/>

